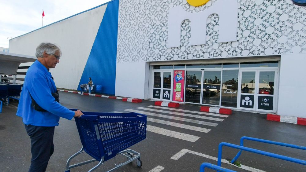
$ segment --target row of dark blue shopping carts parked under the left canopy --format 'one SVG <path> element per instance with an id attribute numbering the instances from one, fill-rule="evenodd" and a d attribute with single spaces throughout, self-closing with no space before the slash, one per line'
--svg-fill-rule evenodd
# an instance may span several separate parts
<path id="1" fill-rule="evenodd" d="M 0 82 L 0 113 L 2 112 L 2 104 L 9 105 L 9 99 L 19 100 L 21 87 L 21 84 Z"/>

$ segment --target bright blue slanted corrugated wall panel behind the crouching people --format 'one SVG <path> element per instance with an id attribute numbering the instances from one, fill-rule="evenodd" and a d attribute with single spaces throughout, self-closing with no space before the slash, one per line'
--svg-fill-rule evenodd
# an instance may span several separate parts
<path id="1" fill-rule="evenodd" d="M 100 93 L 115 94 L 118 9 L 119 0 L 108 3 L 80 79 L 78 90 L 80 90 L 80 84 L 88 83 L 88 78 L 91 77 L 96 86 L 102 85 Z M 88 29 L 90 29 L 90 26 L 88 26 Z"/>

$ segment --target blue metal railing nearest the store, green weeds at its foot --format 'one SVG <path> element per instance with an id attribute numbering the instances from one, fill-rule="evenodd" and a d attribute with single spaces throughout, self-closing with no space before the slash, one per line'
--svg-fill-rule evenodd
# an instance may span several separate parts
<path id="1" fill-rule="evenodd" d="M 272 145 L 279 145 L 279 146 L 285 146 L 285 147 L 289 147 L 289 148 L 296 148 L 296 149 L 306 150 L 306 147 L 304 147 L 304 146 L 292 145 L 292 144 L 288 144 L 288 143 L 264 140 L 264 139 L 259 139 L 259 138 L 254 138 L 254 137 L 247 137 L 247 136 L 243 136 L 243 137 L 240 138 L 240 146 L 243 146 L 243 141 L 244 140 L 258 141 L 258 142 L 268 143 L 268 144 L 272 144 Z M 242 153 L 242 150 L 240 150 L 237 153 L 237 155 L 232 159 L 231 163 L 234 163 L 235 161 L 237 161 L 237 159 L 239 158 L 241 153 Z"/>

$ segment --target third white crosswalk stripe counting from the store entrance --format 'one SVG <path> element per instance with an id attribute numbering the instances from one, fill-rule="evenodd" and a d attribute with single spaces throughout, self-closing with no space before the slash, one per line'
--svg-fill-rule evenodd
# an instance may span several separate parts
<path id="1" fill-rule="evenodd" d="M 217 126 L 218 125 L 217 123 L 210 123 L 210 122 L 205 122 L 205 121 L 198 121 L 198 120 L 194 120 L 194 119 L 186 119 L 186 118 L 180 118 L 180 117 L 169 116 L 169 115 L 161 115 L 161 114 L 158 114 L 158 113 L 144 112 L 144 111 L 138 111 L 138 110 L 134 110 L 134 109 L 125 109 L 124 111 L 136 112 L 136 113 L 140 113 L 140 114 L 144 114 L 144 115 L 157 116 L 157 117 L 161 117 L 161 118 L 174 119 L 174 120 L 185 121 L 185 122 L 189 122 L 189 123 L 202 124 L 202 125 L 207 125 L 207 126 Z"/>

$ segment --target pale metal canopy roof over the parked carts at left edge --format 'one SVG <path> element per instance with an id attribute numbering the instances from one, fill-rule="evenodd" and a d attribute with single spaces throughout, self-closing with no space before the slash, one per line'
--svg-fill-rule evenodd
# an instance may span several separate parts
<path id="1" fill-rule="evenodd" d="M 34 62 L 36 59 L 34 56 L 0 52 L 0 74 L 17 75 L 21 63 Z"/>

